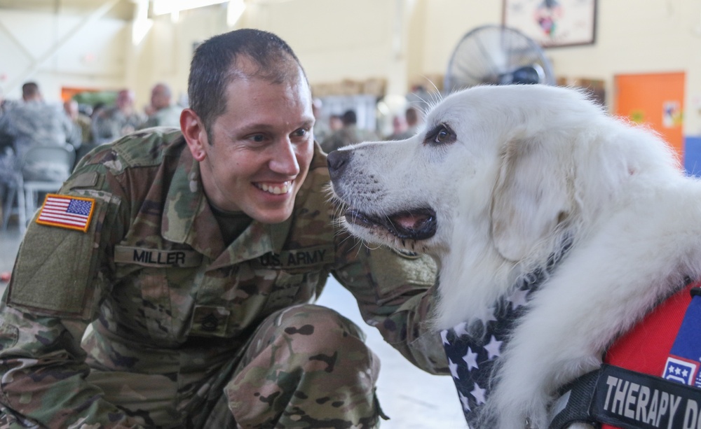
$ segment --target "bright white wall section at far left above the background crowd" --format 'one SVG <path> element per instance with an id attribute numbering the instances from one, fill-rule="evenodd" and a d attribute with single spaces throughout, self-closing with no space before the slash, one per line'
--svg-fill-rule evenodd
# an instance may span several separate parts
<path id="1" fill-rule="evenodd" d="M 36 80 L 50 101 L 60 100 L 61 87 L 120 87 L 128 28 L 109 18 L 0 10 L 0 85 L 6 98 L 21 97 L 27 80 Z"/>

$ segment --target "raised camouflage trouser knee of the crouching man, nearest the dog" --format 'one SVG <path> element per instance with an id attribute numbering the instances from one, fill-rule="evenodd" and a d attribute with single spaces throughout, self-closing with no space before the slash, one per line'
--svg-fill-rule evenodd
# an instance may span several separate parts
<path id="1" fill-rule="evenodd" d="M 224 428 L 218 422 L 233 414 L 239 428 L 376 428 L 379 367 L 365 334 L 335 311 L 279 311 L 253 336 L 204 427 Z"/>

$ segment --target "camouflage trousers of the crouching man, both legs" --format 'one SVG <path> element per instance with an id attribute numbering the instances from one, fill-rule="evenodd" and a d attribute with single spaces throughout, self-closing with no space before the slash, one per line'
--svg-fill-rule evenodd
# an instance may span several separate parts
<path id="1" fill-rule="evenodd" d="M 367 429 L 386 418 L 375 395 L 379 358 L 360 328 L 336 311 L 283 309 L 246 344 L 187 388 L 182 379 L 125 372 L 93 370 L 88 380 L 144 428 Z M 8 419 L 13 424 L 0 427 L 32 427 Z"/>

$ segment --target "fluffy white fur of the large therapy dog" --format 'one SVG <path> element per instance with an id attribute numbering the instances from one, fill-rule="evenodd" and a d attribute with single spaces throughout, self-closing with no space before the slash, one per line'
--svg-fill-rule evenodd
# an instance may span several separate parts
<path id="1" fill-rule="evenodd" d="M 454 136 L 436 137 L 441 125 Z M 501 356 L 485 409 L 498 428 L 547 428 L 557 388 L 598 367 L 685 276 L 701 276 L 700 182 L 658 136 L 578 90 L 473 87 L 440 101 L 411 139 L 346 150 L 332 171 L 341 201 L 380 216 L 435 210 L 428 239 L 346 225 L 436 258 L 437 328 L 479 318 L 571 240 Z"/>

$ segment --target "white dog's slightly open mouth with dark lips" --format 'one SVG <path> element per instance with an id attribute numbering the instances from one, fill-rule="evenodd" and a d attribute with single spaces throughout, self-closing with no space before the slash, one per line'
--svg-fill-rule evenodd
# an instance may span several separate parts
<path id="1" fill-rule="evenodd" d="M 399 239 L 425 240 L 436 233 L 436 213 L 433 209 L 400 211 L 391 216 L 374 216 L 355 209 L 345 213 L 346 221 L 361 227 L 383 227 Z"/>

